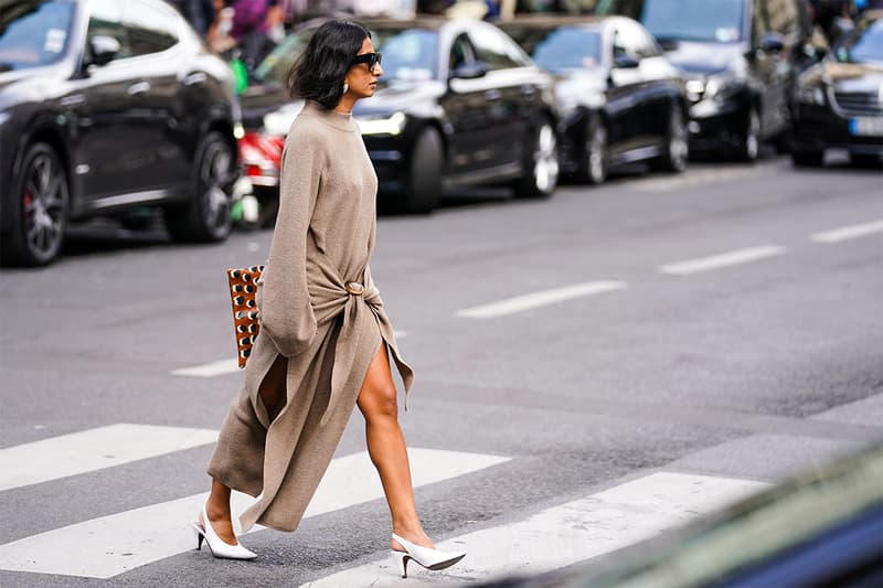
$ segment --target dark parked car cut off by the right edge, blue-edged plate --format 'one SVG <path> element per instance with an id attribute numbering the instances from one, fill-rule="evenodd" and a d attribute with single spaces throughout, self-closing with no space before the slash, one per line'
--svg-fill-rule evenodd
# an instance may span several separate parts
<path id="1" fill-rule="evenodd" d="M 818 167 L 828 148 L 857 163 L 883 156 L 883 10 L 869 11 L 855 31 L 797 81 L 791 157 Z"/>

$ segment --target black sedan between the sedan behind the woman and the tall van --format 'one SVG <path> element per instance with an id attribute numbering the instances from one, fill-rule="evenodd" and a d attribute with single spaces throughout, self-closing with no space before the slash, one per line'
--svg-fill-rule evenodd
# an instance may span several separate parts
<path id="1" fill-rule="evenodd" d="M 597 184 L 620 163 L 687 168 L 683 78 L 640 23 L 535 15 L 500 26 L 557 77 L 564 171 Z"/>

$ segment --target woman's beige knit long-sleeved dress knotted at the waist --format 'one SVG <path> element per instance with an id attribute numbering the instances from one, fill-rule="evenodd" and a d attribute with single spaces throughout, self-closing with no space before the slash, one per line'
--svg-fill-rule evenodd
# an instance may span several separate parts
<path id="1" fill-rule="evenodd" d="M 279 213 L 257 291 L 260 332 L 209 463 L 216 480 L 259 495 L 240 518 L 243 531 L 297 528 L 382 343 L 406 397 L 411 389 L 413 371 L 368 266 L 376 190 L 352 118 L 307 101 L 283 152 Z M 288 359 L 287 399 L 270 423 L 258 388 L 279 354 Z"/>

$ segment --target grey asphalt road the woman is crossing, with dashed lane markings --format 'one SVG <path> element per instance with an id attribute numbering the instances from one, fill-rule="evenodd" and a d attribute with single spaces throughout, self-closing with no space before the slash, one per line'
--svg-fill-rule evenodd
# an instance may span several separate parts
<path id="1" fill-rule="evenodd" d="M 187 520 L 149 509 L 113 531 L 88 525 L 208 490 L 211 442 L 187 431 L 217 429 L 242 375 L 173 372 L 233 357 L 224 268 L 263 261 L 269 242 L 257 232 L 178 246 L 159 228 L 99 224 L 78 229 L 54 266 L 0 275 L 0 464 L 50 472 L 0 478 L 0 586 L 299 586 L 337 573 L 343 579 L 326 585 L 373 581 L 387 511 L 379 494 L 353 498 L 376 483 L 358 475 L 330 489 L 332 505 L 297 533 L 246 535 L 254 563 L 172 547 L 104 576 L 60 573 L 135 562 L 151 542 L 161 552 L 155 525 L 187 531 Z M 770 157 L 565 185 L 541 202 L 491 191 L 428 217 L 382 216 L 372 272 L 417 374 L 402 424 L 424 451 L 415 469 L 429 472 L 415 475 L 418 509 L 439 541 L 475 533 L 514 548 L 507 537 L 536 513 L 629 482 L 656 488 L 655 474 L 751 489 L 883 441 L 879 170 L 795 171 Z M 153 428 L 103 429 L 118 424 Z M 89 446 L 100 461 L 115 452 L 102 442 L 125 453 L 119 439 L 150 445 L 177 428 L 190 441 L 81 464 L 88 431 L 116 431 Z M 357 411 L 338 456 L 363 450 Z M 445 473 L 433 479 L 434 468 Z M 659 496 L 652 512 L 675 501 Z M 607 530 L 607 550 L 639 538 L 628 524 Z M 544 532 L 554 538 L 557 527 Z M 474 541 L 449 574 L 413 570 L 406 581 L 514 569 L 480 560 Z M 91 542 L 98 555 L 77 555 Z M 136 548 L 111 553 L 116 542 Z M 542 568 L 534 547 L 536 562 L 518 569 Z M 55 562 L 68 552 L 83 562 Z M 29 565 L 39 569 L 22 571 Z"/>

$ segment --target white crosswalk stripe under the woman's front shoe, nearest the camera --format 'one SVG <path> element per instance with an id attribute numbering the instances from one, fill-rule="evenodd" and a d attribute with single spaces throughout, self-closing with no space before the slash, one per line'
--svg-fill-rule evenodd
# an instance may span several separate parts
<path id="1" fill-rule="evenodd" d="M 655 473 L 542 511 L 526 521 L 476 531 L 437 545 L 465 550 L 451 568 L 408 564 L 408 586 L 471 584 L 498 575 L 541 574 L 650 538 L 767 488 L 749 480 Z M 391 557 L 350 568 L 301 588 L 401 587 Z"/>

